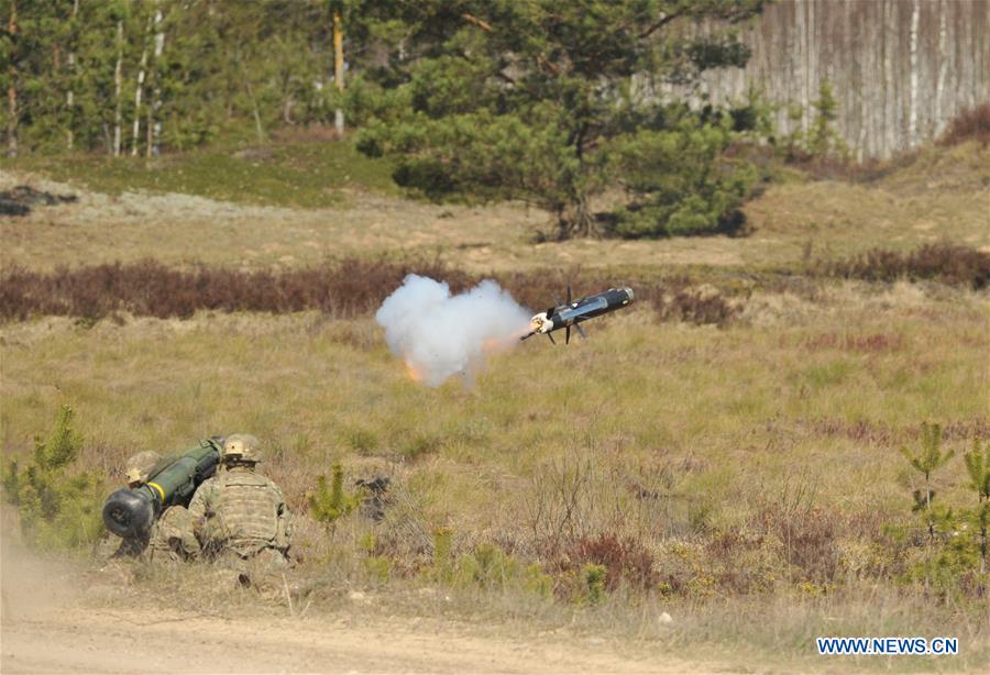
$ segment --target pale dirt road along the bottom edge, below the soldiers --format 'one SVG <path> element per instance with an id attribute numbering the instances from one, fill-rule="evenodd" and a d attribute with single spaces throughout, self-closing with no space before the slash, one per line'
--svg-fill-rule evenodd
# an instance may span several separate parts
<path id="1" fill-rule="evenodd" d="M 3 673 L 683 673 L 605 645 L 494 639 L 452 624 L 344 626 L 72 609 L 2 626 Z"/>

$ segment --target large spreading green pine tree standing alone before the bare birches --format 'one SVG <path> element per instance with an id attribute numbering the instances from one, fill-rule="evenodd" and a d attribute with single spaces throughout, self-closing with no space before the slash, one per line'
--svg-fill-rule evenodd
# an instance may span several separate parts
<path id="1" fill-rule="evenodd" d="M 531 201 L 559 233 L 597 234 L 593 198 L 614 177 L 616 141 L 662 129 L 634 78 L 693 81 L 741 66 L 727 32 L 683 34 L 675 20 L 743 21 L 761 0 L 420 0 L 399 16 L 388 67 L 352 81 L 367 128 L 359 148 L 393 154 L 396 179 L 427 195 Z"/>

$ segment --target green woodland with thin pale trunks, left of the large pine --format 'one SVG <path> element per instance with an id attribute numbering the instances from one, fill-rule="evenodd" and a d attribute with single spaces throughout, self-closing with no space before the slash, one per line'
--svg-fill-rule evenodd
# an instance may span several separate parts
<path id="1" fill-rule="evenodd" d="M 8 155 L 152 155 L 327 121 L 326 1 L 2 0 Z M 329 113 L 332 115 L 332 111 Z"/>

